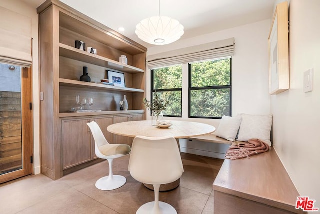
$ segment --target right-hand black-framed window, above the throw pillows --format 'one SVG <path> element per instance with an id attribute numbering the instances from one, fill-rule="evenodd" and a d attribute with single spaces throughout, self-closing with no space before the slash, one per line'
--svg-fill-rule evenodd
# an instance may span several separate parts
<path id="1" fill-rule="evenodd" d="M 189 117 L 231 115 L 231 58 L 189 64 Z"/>

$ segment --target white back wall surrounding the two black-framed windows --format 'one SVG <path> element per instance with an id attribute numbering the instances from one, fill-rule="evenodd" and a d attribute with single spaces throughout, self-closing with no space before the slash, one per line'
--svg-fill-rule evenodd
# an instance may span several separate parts
<path id="1" fill-rule="evenodd" d="M 235 53 L 232 57 L 232 116 L 236 116 L 238 113 L 269 114 L 268 35 L 270 22 L 268 19 L 190 39 L 181 39 L 169 45 L 151 47 L 148 49 L 147 55 L 234 37 Z M 147 71 L 147 97 L 150 99 L 149 74 L 149 71 Z M 220 120 L 188 118 L 187 68 L 183 68 L 183 75 L 182 84 L 185 88 L 182 89 L 182 118 L 167 117 L 166 119 L 203 122 L 217 128 Z M 148 113 L 148 119 L 150 119 L 149 115 Z M 200 141 L 180 141 L 181 151 L 199 155 L 223 158 L 223 152 L 225 153 L 227 149 L 225 145 Z"/>

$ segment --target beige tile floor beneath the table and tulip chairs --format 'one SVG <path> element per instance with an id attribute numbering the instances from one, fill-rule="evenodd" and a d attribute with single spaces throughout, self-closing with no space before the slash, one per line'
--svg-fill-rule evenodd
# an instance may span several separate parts
<path id="1" fill-rule="evenodd" d="M 213 213 L 212 183 L 223 160 L 181 153 L 184 173 L 180 186 L 160 192 L 160 201 L 178 213 Z M 113 161 L 114 174 L 127 178 L 119 189 L 102 191 L 95 181 L 108 174 L 103 161 L 59 180 L 38 174 L 0 185 L 0 213 L 135 213 L 154 193 L 134 180 L 127 171 L 129 156 Z"/>

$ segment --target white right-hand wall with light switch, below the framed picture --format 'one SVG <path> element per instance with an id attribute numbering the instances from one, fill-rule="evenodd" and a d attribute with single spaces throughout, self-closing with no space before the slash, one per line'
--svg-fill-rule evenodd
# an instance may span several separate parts
<path id="1" fill-rule="evenodd" d="M 302 196 L 320 208 L 320 1 L 289 4 L 290 89 L 271 96 L 273 143 Z M 303 92 L 303 72 L 313 68 L 313 90 Z"/>

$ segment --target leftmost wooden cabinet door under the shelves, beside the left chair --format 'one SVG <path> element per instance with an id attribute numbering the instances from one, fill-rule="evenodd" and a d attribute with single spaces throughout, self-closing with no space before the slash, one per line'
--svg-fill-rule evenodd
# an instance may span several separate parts
<path id="1" fill-rule="evenodd" d="M 63 169 L 91 160 L 90 119 L 62 120 Z"/>

